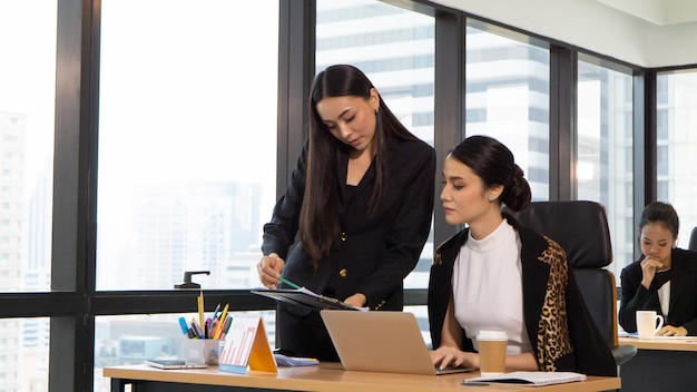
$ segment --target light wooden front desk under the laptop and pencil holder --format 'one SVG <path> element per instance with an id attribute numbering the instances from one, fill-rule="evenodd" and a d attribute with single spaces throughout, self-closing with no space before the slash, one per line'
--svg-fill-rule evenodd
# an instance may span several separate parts
<path id="1" fill-rule="evenodd" d="M 217 366 L 195 370 L 159 370 L 147 365 L 105 367 L 104 376 L 111 378 L 111 392 L 122 392 L 125 385 L 137 385 L 145 391 L 400 391 L 422 392 L 438 390 L 502 392 L 531 391 L 531 386 L 491 384 L 482 386 L 461 385 L 464 379 L 479 376 L 479 372 L 448 375 L 412 375 L 373 372 L 348 372 L 336 366 L 278 367 L 278 374 L 252 372 L 235 374 L 219 372 Z M 534 388 L 536 392 L 608 391 L 620 388 L 619 378 L 589 376 L 583 382 Z"/>

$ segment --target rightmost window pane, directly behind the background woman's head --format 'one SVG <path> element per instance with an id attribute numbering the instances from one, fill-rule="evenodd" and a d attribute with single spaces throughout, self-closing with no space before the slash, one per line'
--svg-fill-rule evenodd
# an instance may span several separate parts
<path id="1" fill-rule="evenodd" d="M 697 70 L 658 75 L 658 199 L 680 217 L 678 246 L 687 248 L 697 226 Z"/>

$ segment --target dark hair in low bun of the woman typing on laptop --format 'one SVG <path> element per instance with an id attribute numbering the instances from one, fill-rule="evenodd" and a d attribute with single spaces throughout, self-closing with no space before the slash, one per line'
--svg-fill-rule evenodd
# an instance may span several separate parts
<path id="1" fill-rule="evenodd" d="M 530 184 L 516 164 L 513 153 L 501 141 L 489 136 L 470 136 L 450 154 L 481 177 L 484 188 L 502 185 L 499 199 L 509 209 L 519 212 L 530 205 Z"/>

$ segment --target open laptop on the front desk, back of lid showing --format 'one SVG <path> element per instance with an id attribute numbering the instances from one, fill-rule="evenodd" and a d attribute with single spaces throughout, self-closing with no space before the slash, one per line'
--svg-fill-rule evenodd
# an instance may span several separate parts
<path id="1" fill-rule="evenodd" d="M 416 317 L 408 312 L 320 311 L 345 370 L 451 374 L 472 369 L 436 369 Z"/>

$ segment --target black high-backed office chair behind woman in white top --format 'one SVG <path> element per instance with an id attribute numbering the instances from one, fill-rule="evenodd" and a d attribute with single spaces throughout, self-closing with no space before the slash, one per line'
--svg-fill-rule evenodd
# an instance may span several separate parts
<path id="1" fill-rule="evenodd" d="M 510 212 L 509 212 L 510 213 Z M 632 345 L 619 345 L 617 285 L 606 270 L 612 262 L 610 229 L 605 207 L 595 202 L 533 202 L 512 214 L 520 224 L 554 239 L 567 252 L 581 295 L 619 366 L 637 354 Z"/>

